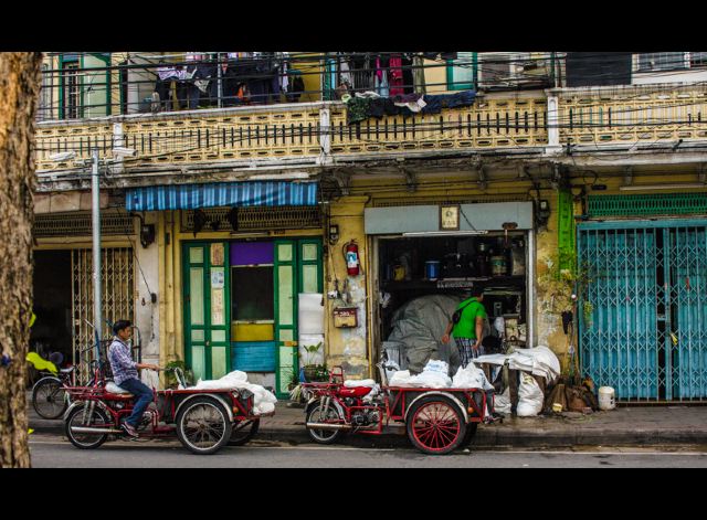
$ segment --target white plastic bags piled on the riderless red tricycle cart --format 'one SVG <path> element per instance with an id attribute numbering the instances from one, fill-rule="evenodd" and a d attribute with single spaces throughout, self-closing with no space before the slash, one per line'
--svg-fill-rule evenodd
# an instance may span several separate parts
<path id="1" fill-rule="evenodd" d="M 426 389 L 484 389 L 493 390 L 486 375 L 473 364 L 457 370 L 454 379 L 447 375 L 449 364 L 440 360 L 430 360 L 422 373 L 410 375 L 410 371 L 395 372 L 390 379 L 390 386 L 426 388 Z"/>

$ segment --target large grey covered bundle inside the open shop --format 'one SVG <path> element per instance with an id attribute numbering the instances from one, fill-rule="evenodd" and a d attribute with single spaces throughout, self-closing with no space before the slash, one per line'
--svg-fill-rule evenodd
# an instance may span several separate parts
<path id="1" fill-rule="evenodd" d="M 458 350 L 454 339 L 442 343 L 442 336 L 460 301 L 462 298 L 455 296 L 422 296 L 395 310 L 388 341 L 404 346 L 401 354 L 408 361 L 408 370 L 422 372 L 429 360 L 436 359 L 450 365 L 450 375 L 456 373 L 461 364 Z"/>

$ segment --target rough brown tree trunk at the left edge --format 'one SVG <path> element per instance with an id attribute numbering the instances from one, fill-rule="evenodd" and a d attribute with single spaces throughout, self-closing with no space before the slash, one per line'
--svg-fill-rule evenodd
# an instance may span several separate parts
<path id="1" fill-rule="evenodd" d="M 0 52 L 0 467 L 30 467 L 24 358 L 32 314 L 34 116 L 41 61 L 41 53 Z"/>

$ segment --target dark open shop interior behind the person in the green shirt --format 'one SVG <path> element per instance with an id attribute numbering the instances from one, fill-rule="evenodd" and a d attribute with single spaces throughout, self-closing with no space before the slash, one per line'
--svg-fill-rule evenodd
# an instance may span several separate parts
<path id="1" fill-rule="evenodd" d="M 519 231 L 374 238 L 379 288 L 374 344 L 392 352 L 403 369 L 405 350 L 420 344 L 424 350 L 425 342 L 449 361 L 454 343 L 441 343 L 444 328 L 458 301 L 481 286 L 489 333 L 498 339 L 498 348 L 528 347 L 527 244 L 528 233 Z M 455 369 L 454 360 L 451 364 Z"/>

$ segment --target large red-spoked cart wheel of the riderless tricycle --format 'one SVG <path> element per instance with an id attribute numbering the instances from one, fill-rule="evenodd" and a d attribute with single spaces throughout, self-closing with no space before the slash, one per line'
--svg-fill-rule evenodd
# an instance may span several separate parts
<path id="1" fill-rule="evenodd" d="M 445 455 L 456 449 L 466 434 L 458 406 L 442 395 L 414 403 L 408 414 L 408 437 L 422 453 Z"/>

